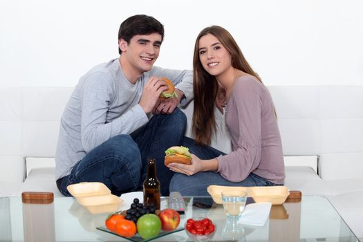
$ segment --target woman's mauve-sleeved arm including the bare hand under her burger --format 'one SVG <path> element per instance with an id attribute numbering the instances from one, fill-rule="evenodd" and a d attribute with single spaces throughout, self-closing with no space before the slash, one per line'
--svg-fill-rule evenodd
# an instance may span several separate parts
<path id="1" fill-rule="evenodd" d="M 232 120 L 229 129 L 234 150 L 225 155 L 201 160 L 192 155 L 192 165 L 171 163 L 168 167 L 176 172 L 193 175 L 200 171 L 218 171 L 232 182 L 239 182 L 256 169 L 261 158 L 261 95 L 256 80 L 239 82 L 228 102 L 228 112 Z"/>

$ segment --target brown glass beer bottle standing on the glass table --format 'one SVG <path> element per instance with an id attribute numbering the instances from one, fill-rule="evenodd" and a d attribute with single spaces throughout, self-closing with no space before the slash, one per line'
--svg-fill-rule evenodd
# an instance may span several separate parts
<path id="1" fill-rule="evenodd" d="M 160 210 L 160 182 L 156 176 L 156 160 L 147 159 L 147 175 L 144 181 L 144 205 L 155 205 Z"/>

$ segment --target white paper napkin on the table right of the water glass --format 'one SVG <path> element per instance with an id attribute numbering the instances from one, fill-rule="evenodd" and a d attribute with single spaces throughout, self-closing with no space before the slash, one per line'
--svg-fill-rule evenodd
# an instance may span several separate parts
<path id="1" fill-rule="evenodd" d="M 263 226 L 270 215 L 271 203 L 250 203 L 245 206 L 239 222 L 243 225 Z"/>

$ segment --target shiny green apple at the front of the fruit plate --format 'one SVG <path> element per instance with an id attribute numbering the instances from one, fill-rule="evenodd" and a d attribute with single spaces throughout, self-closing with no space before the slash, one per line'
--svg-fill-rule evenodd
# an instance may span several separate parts
<path id="1" fill-rule="evenodd" d="M 161 221 L 156 214 L 145 214 L 140 216 L 136 226 L 142 239 L 149 239 L 160 233 Z"/>

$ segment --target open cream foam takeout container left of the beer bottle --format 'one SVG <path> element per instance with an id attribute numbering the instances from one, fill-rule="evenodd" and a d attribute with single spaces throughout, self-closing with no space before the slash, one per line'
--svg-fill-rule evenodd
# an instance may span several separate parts
<path id="1" fill-rule="evenodd" d="M 67 189 L 92 214 L 118 211 L 123 202 L 120 197 L 111 194 L 103 183 L 76 183 L 68 185 Z"/>

